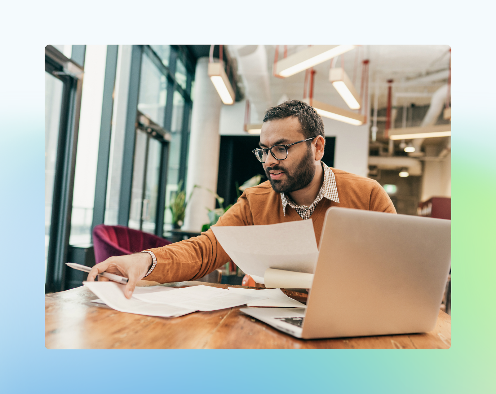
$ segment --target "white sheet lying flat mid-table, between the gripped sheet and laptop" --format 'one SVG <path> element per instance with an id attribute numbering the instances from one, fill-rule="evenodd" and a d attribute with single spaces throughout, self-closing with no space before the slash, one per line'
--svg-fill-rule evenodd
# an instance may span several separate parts
<path id="1" fill-rule="evenodd" d="M 169 292 L 136 294 L 133 297 L 149 303 L 167 304 L 177 308 L 199 311 L 232 308 L 266 298 L 261 294 L 238 294 L 227 289 L 205 285 L 178 288 Z"/>

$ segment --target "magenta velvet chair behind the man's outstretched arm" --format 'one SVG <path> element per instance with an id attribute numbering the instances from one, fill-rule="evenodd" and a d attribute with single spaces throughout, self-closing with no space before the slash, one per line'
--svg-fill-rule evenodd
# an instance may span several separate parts
<path id="1" fill-rule="evenodd" d="M 171 242 L 154 234 L 122 225 L 96 225 L 93 228 L 95 261 L 101 263 L 112 256 L 123 256 L 145 249 L 159 248 Z"/>

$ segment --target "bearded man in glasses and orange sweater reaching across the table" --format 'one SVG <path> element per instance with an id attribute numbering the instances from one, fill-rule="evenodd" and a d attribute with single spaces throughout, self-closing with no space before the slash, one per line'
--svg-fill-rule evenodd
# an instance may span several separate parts
<path id="1" fill-rule="evenodd" d="M 253 150 L 268 181 L 246 189 L 216 225 L 270 225 L 311 218 L 318 244 L 329 207 L 396 213 L 375 180 L 331 169 L 320 161 L 324 136 L 322 119 L 308 104 L 291 100 L 269 108 L 260 147 Z M 125 296 L 130 298 L 136 282 L 143 278 L 162 283 L 199 279 L 229 260 L 208 230 L 162 248 L 110 257 L 93 267 L 88 281 L 103 271 L 129 278 Z"/>

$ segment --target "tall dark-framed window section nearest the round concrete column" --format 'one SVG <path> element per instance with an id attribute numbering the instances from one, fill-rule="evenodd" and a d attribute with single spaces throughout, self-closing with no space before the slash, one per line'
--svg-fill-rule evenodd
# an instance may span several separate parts
<path id="1" fill-rule="evenodd" d="M 186 178 L 191 64 L 180 46 L 142 46 L 137 109 L 150 125 L 138 121 L 128 225 L 160 236 L 172 228 L 167 207 Z"/>

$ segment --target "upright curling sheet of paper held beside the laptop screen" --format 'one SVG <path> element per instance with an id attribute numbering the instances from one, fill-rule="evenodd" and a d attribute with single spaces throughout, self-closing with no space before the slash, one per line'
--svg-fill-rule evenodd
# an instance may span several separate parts
<path id="1" fill-rule="evenodd" d="M 229 257 L 258 283 L 267 268 L 313 273 L 318 249 L 311 219 L 211 229 Z"/>

